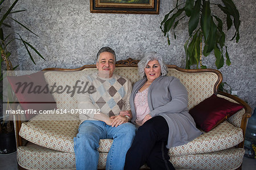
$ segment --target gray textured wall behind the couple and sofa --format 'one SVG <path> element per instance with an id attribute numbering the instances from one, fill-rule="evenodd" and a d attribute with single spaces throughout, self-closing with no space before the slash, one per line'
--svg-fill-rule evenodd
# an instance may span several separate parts
<path id="1" fill-rule="evenodd" d="M 220 0 L 216 0 L 220 1 Z M 238 96 L 254 109 L 256 98 L 255 73 L 255 0 L 233 0 L 241 15 L 240 42 L 227 40 L 232 65 L 220 69 L 224 81 L 238 91 Z M 9 1 L 11 3 L 13 1 Z M 18 59 L 21 70 L 40 70 L 48 67 L 77 68 L 94 64 L 95 56 L 103 46 L 112 47 L 117 59 L 141 59 L 146 51 L 159 52 L 167 64 L 185 67 L 183 44 L 188 38 L 187 24 L 176 28 L 177 39 L 171 36 L 168 46 L 159 26 L 164 15 L 175 5 L 174 0 L 160 0 L 159 15 L 93 14 L 89 0 L 20 0 L 15 9 L 26 12 L 13 14 L 13 18 L 28 26 L 40 36 L 21 31 L 24 39 L 33 44 L 47 61 L 35 53 L 36 65 L 30 61 L 24 48 L 13 44 L 12 57 Z M 14 30 L 20 27 L 13 24 Z M 228 31 L 231 39 L 234 30 Z M 20 47 L 20 46 L 18 46 Z M 204 59 L 208 68 L 216 68 L 213 55 Z"/>

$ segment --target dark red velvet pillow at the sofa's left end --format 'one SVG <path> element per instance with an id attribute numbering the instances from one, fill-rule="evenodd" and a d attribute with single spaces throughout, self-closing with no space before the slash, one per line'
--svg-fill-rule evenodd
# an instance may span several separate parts
<path id="1" fill-rule="evenodd" d="M 24 76 L 8 76 L 7 78 L 23 110 L 57 109 L 55 99 L 49 92 L 43 71 Z M 35 116 L 35 114 L 25 115 L 27 119 Z"/>

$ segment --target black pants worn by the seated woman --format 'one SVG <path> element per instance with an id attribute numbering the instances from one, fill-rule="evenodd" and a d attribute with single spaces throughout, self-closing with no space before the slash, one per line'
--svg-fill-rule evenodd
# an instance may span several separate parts
<path id="1" fill-rule="evenodd" d="M 145 163 L 153 170 L 174 169 L 166 148 L 168 133 L 168 124 L 162 116 L 151 118 L 139 127 L 127 151 L 125 169 L 139 169 Z"/>

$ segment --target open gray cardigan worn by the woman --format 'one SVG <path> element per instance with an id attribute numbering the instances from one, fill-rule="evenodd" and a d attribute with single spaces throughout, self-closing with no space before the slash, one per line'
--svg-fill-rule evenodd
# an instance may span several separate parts
<path id="1" fill-rule="evenodd" d="M 136 111 L 134 98 L 147 78 L 136 82 L 130 96 L 131 122 L 135 123 Z M 147 95 L 150 115 L 160 115 L 166 119 L 169 126 L 167 148 L 180 146 L 190 142 L 202 132 L 196 128 L 196 123 L 188 113 L 188 93 L 185 86 L 176 77 L 158 77 L 148 88 Z"/>

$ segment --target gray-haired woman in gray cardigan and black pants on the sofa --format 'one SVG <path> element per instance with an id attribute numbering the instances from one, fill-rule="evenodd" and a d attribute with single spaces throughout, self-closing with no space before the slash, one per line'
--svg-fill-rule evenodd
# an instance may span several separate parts
<path id="1" fill-rule="evenodd" d="M 168 73 L 162 57 L 146 53 L 138 63 L 142 80 L 134 84 L 130 96 L 132 119 L 137 134 L 126 154 L 125 169 L 174 169 L 168 148 L 188 143 L 201 135 L 188 113 L 184 85 Z"/>

